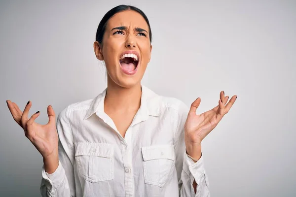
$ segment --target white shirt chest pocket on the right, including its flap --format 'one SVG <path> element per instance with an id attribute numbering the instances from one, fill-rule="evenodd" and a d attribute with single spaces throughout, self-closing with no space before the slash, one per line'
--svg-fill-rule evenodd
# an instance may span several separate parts
<path id="1" fill-rule="evenodd" d="M 172 145 L 142 147 L 144 180 L 146 184 L 163 187 L 175 164 L 175 152 Z"/>

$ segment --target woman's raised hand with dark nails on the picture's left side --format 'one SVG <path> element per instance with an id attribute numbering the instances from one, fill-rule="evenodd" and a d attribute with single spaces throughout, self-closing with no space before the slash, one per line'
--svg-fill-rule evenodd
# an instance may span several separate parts
<path id="1" fill-rule="evenodd" d="M 58 161 L 58 133 L 56 130 L 55 113 L 51 105 L 47 106 L 49 121 L 46 125 L 40 125 L 35 122 L 39 116 L 39 111 L 31 116 L 28 120 L 28 113 L 32 106 L 29 101 L 22 112 L 16 103 L 6 100 L 9 111 L 19 126 L 25 131 L 25 136 L 33 143 L 43 160 Z"/>

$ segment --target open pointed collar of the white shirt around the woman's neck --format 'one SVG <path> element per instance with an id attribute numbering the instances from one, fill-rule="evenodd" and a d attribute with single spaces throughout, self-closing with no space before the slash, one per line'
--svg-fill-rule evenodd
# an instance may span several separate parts
<path id="1" fill-rule="evenodd" d="M 141 121 L 147 120 L 148 116 L 159 116 L 160 106 L 156 101 L 157 94 L 148 89 L 146 86 L 141 85 L 142 95 L 141 95 L 141 105 L 135 116 L 135 124 Z M 107 88 L 95 97 L 90 103 L 90 107 L 84 116 L 84 120 L 89 118 L 91 115 L 96 113 L 99 117 L 105 117 L 104 112 L 104 100 L 106 97 Z"/>

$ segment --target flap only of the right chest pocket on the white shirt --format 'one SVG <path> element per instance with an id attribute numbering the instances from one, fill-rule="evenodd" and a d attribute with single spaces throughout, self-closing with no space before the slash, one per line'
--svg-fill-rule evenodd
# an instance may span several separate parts
<path id="1" fill-rule="evenodd" d="M 175 160 L 173 145 L 158 145 L 142 147 L 143 160 L 169 159 Z"/>

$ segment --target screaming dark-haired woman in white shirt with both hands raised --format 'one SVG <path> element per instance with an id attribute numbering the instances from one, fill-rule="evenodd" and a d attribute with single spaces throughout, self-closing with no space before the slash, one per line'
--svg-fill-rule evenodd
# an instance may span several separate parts
<path id="1" fill-rule="evenodd" d="M 119 5 L 99 24 L 94 51 L 108 71 L 108 87 L 94 99 L 67 106 L 49 122 L 28 120 L 7 100 L 14 120 L 43 157 L 43 197 L 209 197 L 201 141 L 220 122 L 236 96 L 196 115 L 174 98 L 141 84 L 151 55 L 151 29 L 138 8 Z M 226 104 L 227 103 L 227 104 Z M 226 104 L 226 105 L 225 105 Z"/>

